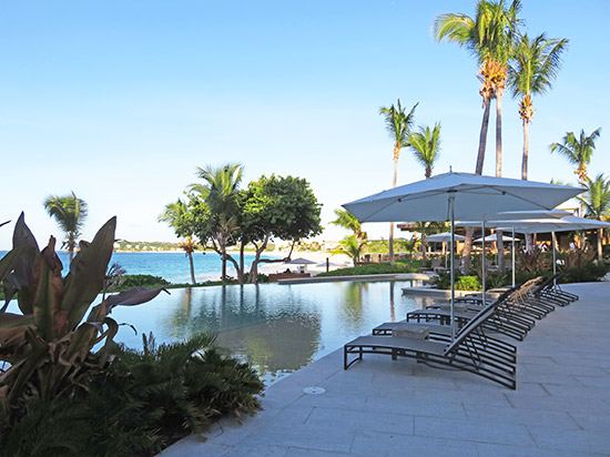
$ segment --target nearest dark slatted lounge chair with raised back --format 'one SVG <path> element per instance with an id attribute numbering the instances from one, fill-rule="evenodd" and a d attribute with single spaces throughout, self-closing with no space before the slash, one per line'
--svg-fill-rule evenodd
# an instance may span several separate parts
<path id="1" fill-rule="evenodd" d="M 515 389 L 517 388 L 517 349 L 512 346 L 515 357 L 507 357 L 489 344 L 484 331 L 485 324 L 494 316 L 498 304 L 507 296 L 508 293 L 485 306 L 459 331 L 454 342 L 403 336 L 360 336 L 344 346 L 344 369 L 362 360 L 364 354 L 385 354 L 390 355 L 393 359 L 410 357 L 430 366 L 446 365 L 459 368 Z M 348 362 L 349 355 L 356 355 L 356 358 Z"/>

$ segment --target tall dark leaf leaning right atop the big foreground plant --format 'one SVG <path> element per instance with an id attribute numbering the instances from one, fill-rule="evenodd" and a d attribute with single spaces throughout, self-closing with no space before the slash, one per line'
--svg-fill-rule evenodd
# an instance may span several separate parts
<path id="1" fill-rule="evenodd" d="M 95 237 L 81 251 L 70 265 L 70 273 L 65 277 L 65 294 L 61 308 L 67 311 L 68 325 L 75 328 L 87 313 L 91 302 L 95 299 L 103 287 L 108 263 L 112 255 L 116 217 L 108 221 Z"/>

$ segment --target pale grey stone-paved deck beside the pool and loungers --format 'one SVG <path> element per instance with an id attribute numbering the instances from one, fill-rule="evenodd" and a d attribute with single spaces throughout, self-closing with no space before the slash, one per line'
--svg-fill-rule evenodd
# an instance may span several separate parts
<path id="1" fill-rule="evenodd" d="M 563 288 L 580 301 L 517 343 L 517 390 L 388 356 L 344 370 L 339 349 L 267 388 L 243 425 L 223 419 L 161 455 L 610 456 L 610 283 Z"/>

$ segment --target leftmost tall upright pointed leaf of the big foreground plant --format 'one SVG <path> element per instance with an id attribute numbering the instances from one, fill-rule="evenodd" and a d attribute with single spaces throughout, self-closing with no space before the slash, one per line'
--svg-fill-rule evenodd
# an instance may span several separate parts
<path id="1" fill-rule="evenodd" d="M 10 281 L 14 290 L 19 290 L 19 308 L 23 314 L 32 314 L 32 294 L 29 291 L 30 280 L 34 272 L 34 264 L 40 250 L 34 235 L 26 225 L 26 215 L 21 213 L 14 224 L 12 234 L 12 247 L 21 248 L 19 261 L 14 266 L 14 272 L 10 275 Z"/>

